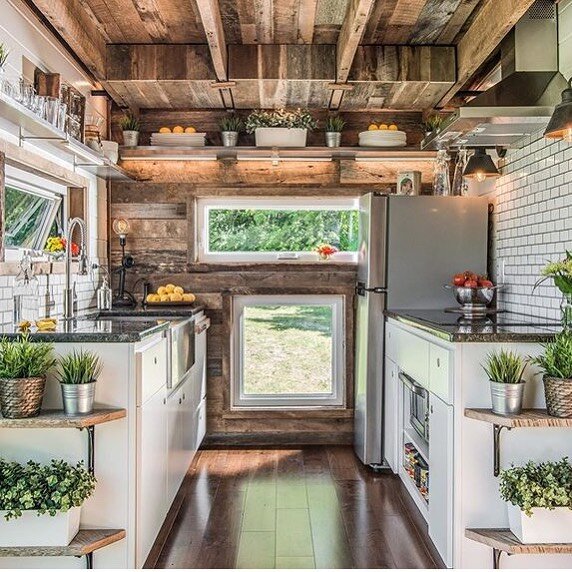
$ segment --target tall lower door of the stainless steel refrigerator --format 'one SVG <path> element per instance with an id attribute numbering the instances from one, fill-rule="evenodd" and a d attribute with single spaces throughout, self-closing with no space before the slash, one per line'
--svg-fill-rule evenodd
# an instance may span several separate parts
<path id="1" fill-rule="evenodd" d="M 364 290 L 357 296 L 354 446 L 366 465 L 383 463 L 385 297 Z"/>

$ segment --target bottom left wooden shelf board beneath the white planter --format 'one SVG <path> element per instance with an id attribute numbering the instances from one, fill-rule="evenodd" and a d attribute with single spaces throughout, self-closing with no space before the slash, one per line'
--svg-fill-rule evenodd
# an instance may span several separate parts
<path id="1" fill-rule="evenodd" d="M 0 557 L 87 556 L 123 538 L 125 530 L 119 528 L 86 528 L 80 530 L 68 546 L 0 547 Z"/>

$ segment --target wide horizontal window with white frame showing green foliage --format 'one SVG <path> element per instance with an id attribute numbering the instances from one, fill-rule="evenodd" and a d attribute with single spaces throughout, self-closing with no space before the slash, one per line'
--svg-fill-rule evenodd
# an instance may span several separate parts
<path id="1" fill-rule="evenodd" d="M 355 261 L 357 199 L 204 198 L 198 201 L 201 262 L 315 261 L 319 244 L 338 249 L 337 261 Z"/>

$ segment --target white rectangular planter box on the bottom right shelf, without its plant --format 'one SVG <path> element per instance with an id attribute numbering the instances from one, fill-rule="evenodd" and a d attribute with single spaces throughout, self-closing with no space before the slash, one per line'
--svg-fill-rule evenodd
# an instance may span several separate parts
<path id="1" fill-rule="evenodd" d="M 507 503 L 507 509 L 510 530 L 523 544 L 572 542 L 572 510 L 569 508 L 535 508 L 532 516 L 526 516 L 511 503 Z"/>

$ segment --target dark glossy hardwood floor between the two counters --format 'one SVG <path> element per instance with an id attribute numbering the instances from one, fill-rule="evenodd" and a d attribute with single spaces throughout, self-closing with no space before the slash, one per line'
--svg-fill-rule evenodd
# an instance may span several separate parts
<path id="1" fill-rule="evenodd" d="M 399 479 L 351 447 L 205 450 L 156 568 L 438 568 Z"/>

